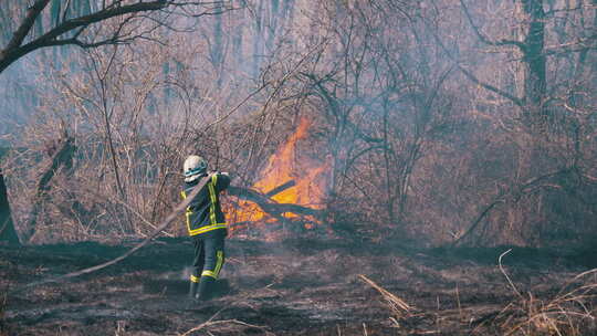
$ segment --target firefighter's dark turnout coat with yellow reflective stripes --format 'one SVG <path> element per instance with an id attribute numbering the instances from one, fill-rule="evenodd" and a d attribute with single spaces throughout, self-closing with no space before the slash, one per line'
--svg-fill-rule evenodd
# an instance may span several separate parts
<path id="1" fill-rule="evenodd" d="M 182 199 L 190 195 L 192 188 L 203 179 L 205 176 L 192 182 L 185 183 L 185 189 L 180 192 Z M 212 172 L 210 180 L 199 191 L 193 200 L 187 207 L 185 213 L 187 220 L 187 230 L 189 235 L 198 235 L 214 230 L 224 230 L 227 223 L 220 206 L 219 193 L 230 185 L 230 177 L 226 174 Z"/>

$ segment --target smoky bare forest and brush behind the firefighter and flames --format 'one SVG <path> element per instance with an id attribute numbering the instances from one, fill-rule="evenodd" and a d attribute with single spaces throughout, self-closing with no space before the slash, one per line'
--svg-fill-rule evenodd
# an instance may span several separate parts
<path id="1" fill-rule="evenodd" d="M 144 3 L 29 2 L 46 7 L 23 45 Z M 145 2 L 160 6 L 13 62 L 4 52 L 33 7 L 0 2 L 1 167 L 21 243 L 145 237 L 179 201 L 187 155 L 251 187 L 303 120 L 290 175 L 323 190 L 301 203 L 320 218 L 272 228 L 595 243 L 596 0 Z M 230 221 L 232 234 L 272 234 Z"/>

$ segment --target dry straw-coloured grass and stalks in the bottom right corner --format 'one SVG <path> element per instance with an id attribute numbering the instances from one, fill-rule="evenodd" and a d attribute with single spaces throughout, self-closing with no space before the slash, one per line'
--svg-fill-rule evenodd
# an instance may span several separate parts
<path id="1" fill-rule="evenodd" d="M 502 309 L 486 314 L 485 317 L 475 318 L 474 315 L 479 312 L 462 307 L 457 294 L 458 314 L 450 309 L 437 312 L 437 317 L 443 321 L 446 327 L 469 329 L 469 335 L 501 336 L 583 336 L 595 332 L 597 326 L 597 307 L 595 306 L 597 302 L 597 269 L 574 276 L 553 295 L 537 297 L 531 292 L 521 292 L 507 275 L 501 261 L 509 252 L 506 251 L 500 256 L 499 266 L 515 294 L 515 298 Z M 365 275 L 359 275 L 359 279 L 381 294 L 391 312 L 390 321 L 396 327 L 408 326 L 410 321 L 425 319 L 433 315 L 416 312 L 418 309 L 415 306 Z M 398 321 L 401 323 L 399 324 Z M 439 329 L 441 328 L 423 333 L 440 333 Z"/>

